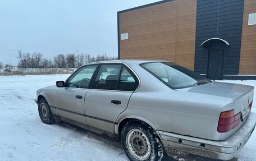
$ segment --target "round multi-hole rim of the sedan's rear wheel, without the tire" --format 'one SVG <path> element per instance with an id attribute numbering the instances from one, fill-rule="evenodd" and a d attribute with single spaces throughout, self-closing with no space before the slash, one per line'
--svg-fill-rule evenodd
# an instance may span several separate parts
<path id="1" fill-rule="evenodd" d="M 148 137 L 139 129 L 132 129 L 126 136 L 126 145 L 130 154 L 138 160 L 148 159 L 151 146 Z"/>

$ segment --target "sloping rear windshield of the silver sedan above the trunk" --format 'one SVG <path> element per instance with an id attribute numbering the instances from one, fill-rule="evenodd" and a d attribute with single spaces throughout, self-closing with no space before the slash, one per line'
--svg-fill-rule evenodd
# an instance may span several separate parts
<path id="1" fill-rule="evenodd" d="M 172 62 L 144 63 L 141 66 L 172 89 L 189 88 L 211 82 L 211 80 Z"/>

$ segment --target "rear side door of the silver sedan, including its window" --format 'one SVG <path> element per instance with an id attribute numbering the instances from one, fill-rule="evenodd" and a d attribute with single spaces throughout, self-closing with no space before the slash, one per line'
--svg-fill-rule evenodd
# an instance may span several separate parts
<path id="1" fill-rule="evenodd" d="M 88 126 L 114 133 L 118 115 L 125 111 L 138 79 L 121 64 L 103 64 L 85 96 L 84 110 Z"/>

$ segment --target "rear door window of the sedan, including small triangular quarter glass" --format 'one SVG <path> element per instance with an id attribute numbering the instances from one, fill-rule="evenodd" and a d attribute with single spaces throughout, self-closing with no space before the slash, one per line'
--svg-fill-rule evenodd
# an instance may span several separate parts
<path id="1" fill-rule="evenodd" d="M 95 78 L 93 89 L 134 91 L 138 80 L 122 65 L 102 65 Z"/>

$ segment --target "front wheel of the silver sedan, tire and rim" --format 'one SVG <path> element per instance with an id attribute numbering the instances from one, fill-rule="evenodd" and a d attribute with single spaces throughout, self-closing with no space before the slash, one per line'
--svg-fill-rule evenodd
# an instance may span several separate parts
<path id="1" fill-rule="evenodd" d="M 51 109 L 49 108 L 47 101 L 44 98 L 41 98 L 38 102 L 38 113 L 43 123 L 49 125 L 54 123 L 53 114 L 51 112 Z"/>

